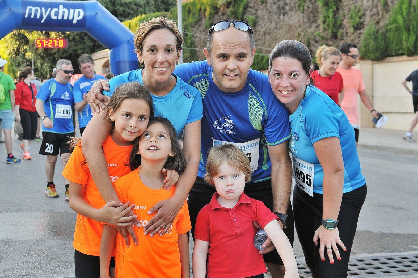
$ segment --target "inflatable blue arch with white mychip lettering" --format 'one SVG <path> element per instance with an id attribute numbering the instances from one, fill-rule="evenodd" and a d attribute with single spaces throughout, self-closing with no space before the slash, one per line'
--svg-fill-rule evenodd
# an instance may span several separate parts
<path id="1" fill-rule="evenodd" d="M 113 73 L 138 68 L 134 34 L 97 1 L 0 0 L 0 26 L 0 38 L 15 29 L 86 31 L 110 49 Z"/>

